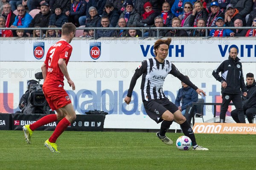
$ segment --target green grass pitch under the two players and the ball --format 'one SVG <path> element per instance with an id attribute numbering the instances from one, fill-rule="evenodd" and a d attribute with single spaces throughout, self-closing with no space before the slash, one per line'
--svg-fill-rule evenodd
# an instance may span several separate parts
<path id="1" fill-rule="evenodd" d="M 0 170 L 256 170 L 256 135 L 196 134 L 209 151 L 180 151 L 155 133 L 65 131 L 51 153 L 51 134 L 35 131 L 26 144 L 22 131 L 0 130 Z"/>

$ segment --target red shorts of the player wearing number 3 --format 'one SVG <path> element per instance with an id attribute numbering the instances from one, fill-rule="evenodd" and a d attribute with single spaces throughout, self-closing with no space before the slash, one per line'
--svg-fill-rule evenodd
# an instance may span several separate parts
<path id="1" fill-rule="evenodd" d="M 71 103 L 70 97 L 63 87 L 44 87 L 44 96 L 52 111 Z"/>

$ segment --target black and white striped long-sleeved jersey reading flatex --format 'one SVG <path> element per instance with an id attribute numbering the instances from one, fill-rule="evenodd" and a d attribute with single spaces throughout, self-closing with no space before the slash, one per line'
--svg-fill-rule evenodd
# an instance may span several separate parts
<path id="1" fill-rule="evenodd" d="M 197 87 L 193 85 L 192 82 L 190 82 L 183 74 L 181 74 L 175 65 L 167 59 L 165 59 L 163 63 L 160 63 L 157 59 L 151 58 L 144 60 L 135 70 L 127 96 L 131 97 L 137 79 L 143 75 L 140 87 L 142 91 L 142 99 L 148 101 L 148 99 L 157 100 L 166 98 L 163 93 L 163 83 L 168 74 L 174 75 L 190 87 L 195 90 L 197 89 Z"/>

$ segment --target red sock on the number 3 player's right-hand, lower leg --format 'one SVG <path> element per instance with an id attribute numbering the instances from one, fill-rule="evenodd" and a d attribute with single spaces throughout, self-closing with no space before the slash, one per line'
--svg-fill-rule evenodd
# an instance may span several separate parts
<path id="1" fill-rule="evenodd" d="M 63 133 L 65 129 L 67 129 L 70 122 L 64 117 L 55 128 L 54 132 L 52 133 L 52 136 L 49 138 L 49 142 L 55 143 L 58 137 Z"/>

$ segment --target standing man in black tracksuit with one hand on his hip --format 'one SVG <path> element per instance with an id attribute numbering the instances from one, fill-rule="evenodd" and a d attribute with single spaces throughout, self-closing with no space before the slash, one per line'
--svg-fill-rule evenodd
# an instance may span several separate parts
<path id="1" fill-rule="evenodd" d="M 227 108 L 231 100 L 237 109 L 239 121 L 245 123 L 241 90 L 243 95 L 247 96 L 247 89 L 244 84 L 242 64 L 239 62 L 240 59 L 237 57 L 237 54 L 238 52 L 235 47 L 230 48 L 228 59 L 221 62 L 212 72 L 213 77 L 221 82 L 221 123 L 225 122 Z M 221 72 L 221 77 L 219 76 L 219 72 Z"/>

